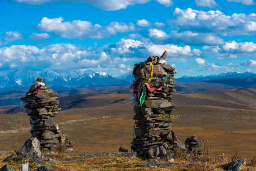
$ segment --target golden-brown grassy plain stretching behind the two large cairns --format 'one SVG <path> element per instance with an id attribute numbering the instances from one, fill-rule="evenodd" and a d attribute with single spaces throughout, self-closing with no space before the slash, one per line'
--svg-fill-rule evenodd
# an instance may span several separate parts
<path id="1" fill-rule="evenodd" d="M 133 104 L 113 104 L 71 109 L 61 111 L 54 120 L 64 122 L 101 117 L 101 119 L 60 125 L 60 128 L 75 142 L 74 151 L 116 152 L 120 146 L 130 148 L 134 124 L 132 107 Z M 256 111 L 211 106 L 177 106 L 175 113 L 179 114 L 179 118 L 174 121 L 172 129 L 181 142 L 184 142 L 188 136 L 197 135 L 200 140 L 213 141 L 214 154 L 219 155 L 223 152 L 233 154 L 236 149 L 241 149 L 246 159 L 250 160 L 255 155 Z M 3 118 L 9 117 L 9 115 L 3 116 Z M 15 125 L 18 128 L 22 125 L 30 128 L 27 123 L 29 118 L 26 115 L 18 116 L 12 118 Z M 103 118 L 103 116 L 112 118 Z M 15 121 L 15 119 L 20 120 L 20 117 L 23 118 L 20 123 Z M 230 120 L 226 121 L 223 117 L 230 117 Z M 15 128 L 11 122 L 8 124 L 0 121 L 0 125 L 5 125 L 6 128 L 8 126 Z M 30 137 L 30 132 L 27 130 L 18 133 L 0 133 L 0 137 L 2 138 L 0 150 L 15 150 Z"/>

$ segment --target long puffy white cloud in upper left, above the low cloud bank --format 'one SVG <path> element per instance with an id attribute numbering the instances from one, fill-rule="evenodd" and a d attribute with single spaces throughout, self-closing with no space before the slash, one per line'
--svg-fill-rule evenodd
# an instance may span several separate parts
<path id="1" fill-rule="evenodd" d="M 135 30 L 133 23 L 111 22 L 108 26 L 92 24 L 89 21 L 73 20 L 63 21 L 60 18 L 42 18 L 38 24 L 38 28 L 43 31 L 53 32 L 63 38 L 78 38 L 78 39 L 103 39 L 117 33 L 125 33 Z M 74 31 L 75 30 L 75 31 Z"/>

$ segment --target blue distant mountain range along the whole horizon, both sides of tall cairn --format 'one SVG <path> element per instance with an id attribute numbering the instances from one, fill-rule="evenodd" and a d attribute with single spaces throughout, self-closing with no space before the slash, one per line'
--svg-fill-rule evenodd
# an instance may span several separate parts
<path id="1" fill-rule="evenodd" d="M 105 72 L 94 72 L 91 69 L 75 69 L 69 71 L 32 71 L 30 69 L 19 69 L 0 72 L 0 90 L 23 89 L 31 85 L 37 77 L 44 77 L 45 83 L 54 89 L 86 88 L 86 87 L 104 87 L 104 86 L 128 86 L 133 80 L 132 72 L 121 76 L 111 76 Z M 209 76 L 182 76 L 176 78 L 176 82 L 209 82 L 219 79 L 244 79 L 256 78 L 255 73 L 245 72 L 227 72 L 219 75 Z M 228 83 L 227 83 L 228 84 Z"/>

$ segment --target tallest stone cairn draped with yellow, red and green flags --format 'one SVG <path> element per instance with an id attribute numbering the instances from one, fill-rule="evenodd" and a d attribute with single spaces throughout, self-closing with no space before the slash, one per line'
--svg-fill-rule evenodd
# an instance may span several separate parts
<path id="1" fill-rule="evenodd" d="M 166 64 L 167 52 L 161 57 L 150 56 L 133 69 L 133 93 L 135 95 L 135 130 L 132 150 L 146 158 L 173 157 L 177 142 L 170 132 L 174 67 Z M 177 138 L 176 138 L 177 139 Z"/>

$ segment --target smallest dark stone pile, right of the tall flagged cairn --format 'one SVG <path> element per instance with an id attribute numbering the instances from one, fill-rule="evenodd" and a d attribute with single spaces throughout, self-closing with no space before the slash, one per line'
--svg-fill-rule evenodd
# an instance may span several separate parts
<path id="1" fill-rule="evenodd" d="M 188 137 L 185 140 L 185 145 L 188 146 L 188 153 L 195 153 L 197 155 L 202 155 L 202 151 L 200 149 L 199 141 L 197 136 Z"/>

